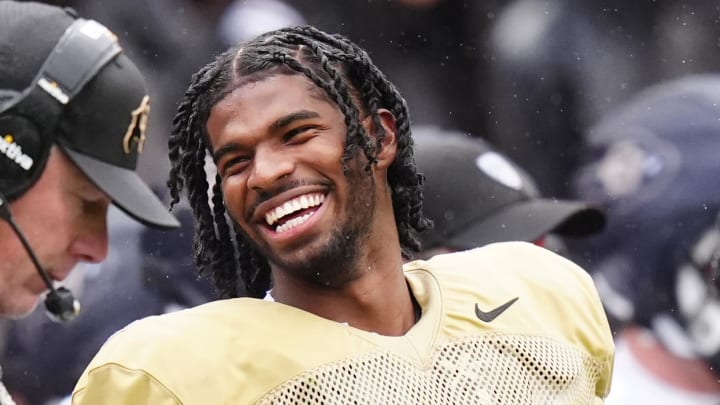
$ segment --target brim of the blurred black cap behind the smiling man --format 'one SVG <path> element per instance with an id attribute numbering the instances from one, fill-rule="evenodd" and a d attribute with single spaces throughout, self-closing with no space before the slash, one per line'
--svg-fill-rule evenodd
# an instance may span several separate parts
<path id="1" fill-rule="evenodd" d="M 533 242 L 548 233 L 586 236 L 605 227 L 605 213 L 575 201 L 532 199 L 519 201 L 489 218 L 451 235 L 448 244 L 469 249 L 493 242 Z"/>

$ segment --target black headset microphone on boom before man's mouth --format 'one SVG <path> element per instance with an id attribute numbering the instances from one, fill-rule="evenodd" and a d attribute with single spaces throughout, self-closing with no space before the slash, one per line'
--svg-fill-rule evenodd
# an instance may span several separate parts
<path id="1" fill-rule="evenodd" d="M 25 238 L 25 235 L 22 231 L 20 231 L 20 227 L 18 227 L 15 223 L 10 211 L 10 203 L 3 193 L 0 193 L 0 217 L 10 224 L 10 227 L 18 236 L 20 242 L 22 242 L 25 250 L 28 252 L 30 259 L 32 259 L 32 262 L 35 264 L 40 277 L 42 277 L 43 281 L 45 281 L 45 284 L 50 290 L 45 297 L 45 308 L 47 309 L 47 314 L 50 319 L 57 322 L 67 322 L 75 319 L 75 317 L 80 313 L 80 302 L 73 297 L 72 293 L 67 288 L 55 288 L 53 286 L 52 280 L 50 279 L 47 271 L 42 267 L 40 261 L 35 255 L 35 252 L 32 250 L 30 244 Z"/>

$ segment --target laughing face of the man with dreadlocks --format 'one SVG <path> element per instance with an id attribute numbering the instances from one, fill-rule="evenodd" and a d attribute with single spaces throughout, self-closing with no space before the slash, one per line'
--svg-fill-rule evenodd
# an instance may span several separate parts
<path id="1" fill-rule="evenodd" d="M 276 75 L 220 101 L 207 129 L 227 210 L 274 268 L 325 285 L 358 276 L 375 185 L 362 157 L 343 172 L 335 104 L 302 75 Z"/>

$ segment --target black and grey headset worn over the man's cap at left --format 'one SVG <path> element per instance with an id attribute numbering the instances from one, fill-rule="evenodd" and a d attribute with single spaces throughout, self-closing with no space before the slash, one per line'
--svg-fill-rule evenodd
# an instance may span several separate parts
<path id="1" fill-rule="evenodd" d="M 60 37 L 30 85 L 21 93 L 0 90 L 0 95 L 11 95 L 0 104 L 0 217 L 10 224 L 49 289 L 45 298 L 48 315 L 62 322 L 78 315 L 79 302 L 65 287 L 53 286 L 13 220 L 9 201 L 32 187 L 42 174 L 65 106 L 122 52 L 117 37 L 105 26 L 77 18 L 71 9 L 66 12 L 75 21 Z"/>

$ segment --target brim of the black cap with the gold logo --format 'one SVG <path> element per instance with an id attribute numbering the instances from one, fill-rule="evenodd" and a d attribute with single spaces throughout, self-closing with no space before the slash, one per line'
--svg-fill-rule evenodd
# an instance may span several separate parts
<path id="1" fill-rule="evenodd" d="M 180 226 L 180 222 L 134 170 L 101 162 L 69 148 L 63 150 L 118 208 L 131 217 L 155 228 Z"/>

